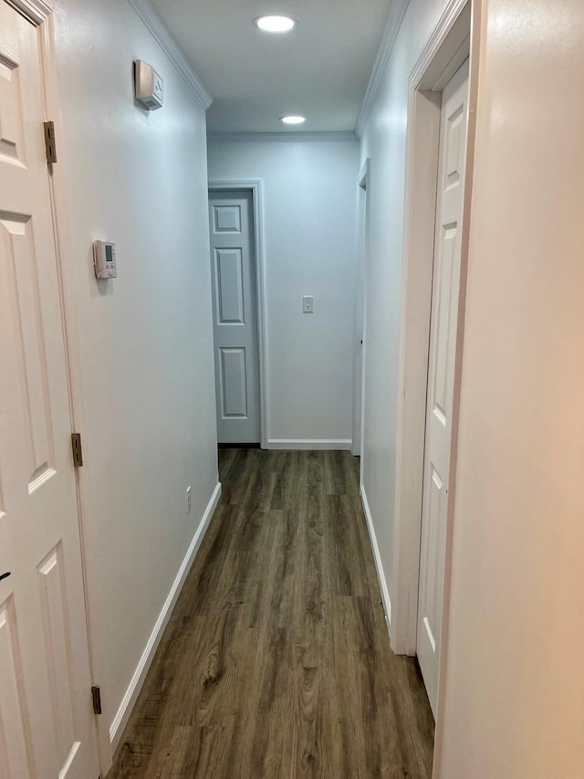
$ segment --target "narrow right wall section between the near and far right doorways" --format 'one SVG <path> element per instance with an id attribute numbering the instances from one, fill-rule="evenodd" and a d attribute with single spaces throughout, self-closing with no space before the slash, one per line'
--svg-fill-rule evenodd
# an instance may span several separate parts
<path id="1" fill-rule="evenodd" d="M 408 79 L 445 5 L 445 0 L 410 0 L 361 137 L 361 163 L 370 157 L 362 479 L 390 601 Z"/>

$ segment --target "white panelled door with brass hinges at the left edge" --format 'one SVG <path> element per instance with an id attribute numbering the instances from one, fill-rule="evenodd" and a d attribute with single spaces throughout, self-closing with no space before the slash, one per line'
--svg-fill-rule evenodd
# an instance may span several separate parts
<path id="1" fill-rule="evenodd" d="M 95 779 L 40 35 L 0 0 L 0 776 Z"/>

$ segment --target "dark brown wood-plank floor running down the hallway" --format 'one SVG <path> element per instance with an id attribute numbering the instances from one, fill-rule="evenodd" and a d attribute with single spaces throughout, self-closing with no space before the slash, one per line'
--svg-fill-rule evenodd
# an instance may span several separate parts
<path id="1" fill-rule="evenodd" d="M 109 779 L 427 779 L 349 452 L 220 452 L 223 496 Z"/>

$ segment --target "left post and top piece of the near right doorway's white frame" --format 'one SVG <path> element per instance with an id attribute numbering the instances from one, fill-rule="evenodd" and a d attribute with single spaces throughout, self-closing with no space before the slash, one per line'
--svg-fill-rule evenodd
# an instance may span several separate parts
<path id="1" fill-rule="evenodd" d="M 464 47 L 464 57 L 468 55 L 469 26 L 470 0 L 451 0 L 423 47 L 408 85 L 400 392 L 391 580 L 394 606 L 392 646 L 398 654 L 407 655 L 415 655 L 417 641 L 435 182 L 440 134 L 441 96 L 436 85 L 453 64 L 461 64 Z M 454 472 L 455 469 L 452 470 Z M 452 500 L 452 487 L 449 493 Z"/>

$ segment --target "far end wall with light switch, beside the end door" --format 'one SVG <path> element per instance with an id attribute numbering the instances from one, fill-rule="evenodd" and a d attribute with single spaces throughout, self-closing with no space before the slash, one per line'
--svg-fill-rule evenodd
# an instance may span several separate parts
<path id="1" fill-rule="evenodd" d="M 271 440 L 350 441 L 358 174 L 357 141 L 209 144 L 210 181 L 263 182 Z"/>

